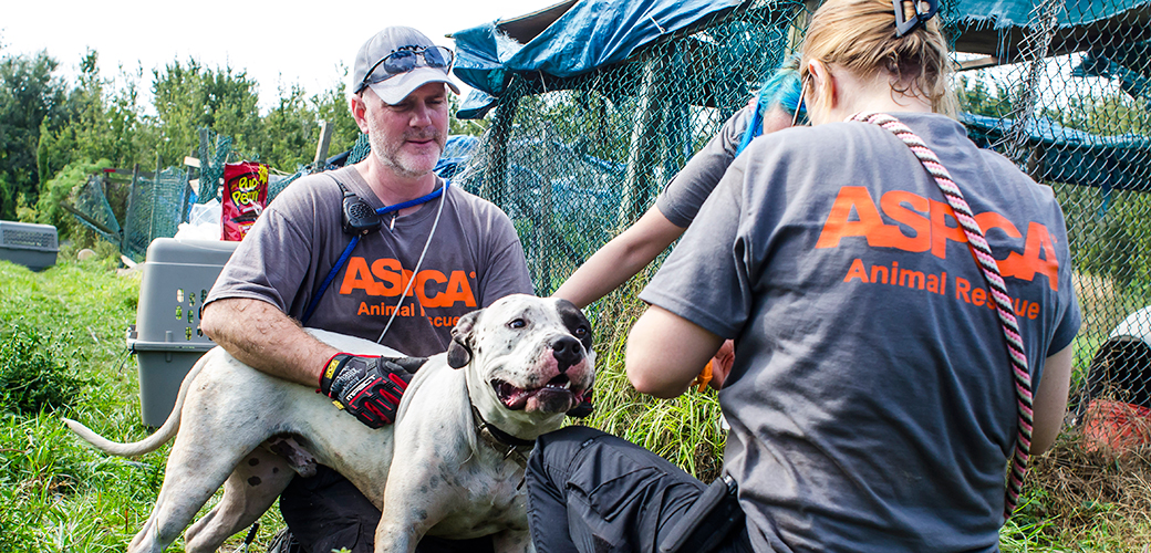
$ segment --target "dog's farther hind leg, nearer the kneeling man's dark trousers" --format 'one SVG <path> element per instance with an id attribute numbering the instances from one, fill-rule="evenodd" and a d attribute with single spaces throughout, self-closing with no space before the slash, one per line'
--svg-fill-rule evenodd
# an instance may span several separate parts
<path id="1" fill-rule="evenodd" d="M 184 533 L 185 551 L 216 551 L 229 536 L 244 530 L 268 510 L 295 475 L 282 458 L 256 448 L 228 476 L 220 504 Z"/>

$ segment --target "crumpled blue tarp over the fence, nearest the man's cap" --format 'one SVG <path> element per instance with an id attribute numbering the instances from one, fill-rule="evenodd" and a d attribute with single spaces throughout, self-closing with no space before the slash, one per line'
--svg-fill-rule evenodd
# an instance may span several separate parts
<path id="1" fill-rule="evenodd" d="M 511 72 L 571 77 L 626 60 L 637 48 L 674 33 L 739 0 L 580 0 L 542 32 L 520 44 L 501 22 L 452 33 L 456 76 L 480 94 L 477 109 L 503 94 Z"/>

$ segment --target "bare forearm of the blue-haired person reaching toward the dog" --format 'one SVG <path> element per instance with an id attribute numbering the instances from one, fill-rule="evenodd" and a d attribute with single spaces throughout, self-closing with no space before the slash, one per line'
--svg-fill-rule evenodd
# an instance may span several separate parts
<path id="1" fill-rule="evenodd" d="M 653 206 L 635 224 L 595 252 L 551 295 L 582 309 L 635 276 L 683 233 L 684 229 Z"/>

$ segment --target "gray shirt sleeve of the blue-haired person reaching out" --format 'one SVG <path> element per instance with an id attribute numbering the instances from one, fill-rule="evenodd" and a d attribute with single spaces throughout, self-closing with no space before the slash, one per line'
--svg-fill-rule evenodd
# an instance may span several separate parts
<path id="1" fill-rule="evenodd" d="M 692 224 L 700 206 L 735 160 L 735 152 L 754 115 L 755 106 L 735 112 L 664 186 L 655 205 L 668 221 L 683 229 Z"/>

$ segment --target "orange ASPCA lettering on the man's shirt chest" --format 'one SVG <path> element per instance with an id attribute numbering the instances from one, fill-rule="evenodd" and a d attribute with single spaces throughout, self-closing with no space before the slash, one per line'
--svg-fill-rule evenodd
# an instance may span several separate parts
<path id="1" fill-rule="evenodd" d="M 475 274 L 471 274 L 475 278 Z M 344 278 L 340 285 L 341 294 L 363 290 L 368 295 L 395 298 L 404 292 L 413 278 L 412 271 L 404 269 L 398 260 L 378 259 L 368 267 L 364 258 L 351 258 L 344 269 Z M 478 307 L 475 294 L 468 275 L 463 270 L 453 270 L 449 275 L 435 269 L 425 269 L 414 275 L 411 294 L 426 307 Z"/>

